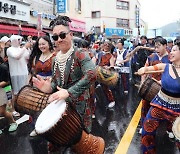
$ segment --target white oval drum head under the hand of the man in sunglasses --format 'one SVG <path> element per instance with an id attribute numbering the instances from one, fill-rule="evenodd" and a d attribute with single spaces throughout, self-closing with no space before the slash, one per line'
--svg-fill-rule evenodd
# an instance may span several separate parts
<path id="1" fill-rule="evenodd" d="M 38 134 L 42 134 L 51 129 L 62 117 L 66 110 L 66 102 L 64 100 L 53 101 L 39 115 L 35 130 Z"/>

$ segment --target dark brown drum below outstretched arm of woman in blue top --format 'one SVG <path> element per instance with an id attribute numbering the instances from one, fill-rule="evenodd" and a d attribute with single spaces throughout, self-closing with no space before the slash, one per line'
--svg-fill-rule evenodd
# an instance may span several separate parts
<path id="1" fill-rule="evenodd" d="M 150 102 L 158 94 L 160 89 L 161 85 L 148 77 L 141 84 L 138 94 L 141 98 Z"/>

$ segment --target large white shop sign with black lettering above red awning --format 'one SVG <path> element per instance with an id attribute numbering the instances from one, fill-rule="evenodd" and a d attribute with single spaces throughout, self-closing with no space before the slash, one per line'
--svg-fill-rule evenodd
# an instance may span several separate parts
<path id="1" fill-rule="evenodd" d="M 29 5 L 0 0 L 0 17 L 29 21 Z"/>

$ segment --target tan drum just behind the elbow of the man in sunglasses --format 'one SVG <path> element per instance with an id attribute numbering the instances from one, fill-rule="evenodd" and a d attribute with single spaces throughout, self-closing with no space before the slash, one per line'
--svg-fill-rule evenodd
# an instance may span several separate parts
<path id="1" fill-rule="evenodd" d="M 101 66 L 96 67 L 97 80 L 108 86 L 115 86 L 119 79 L 119 73 L 114 70 L 105 69 Z"/>

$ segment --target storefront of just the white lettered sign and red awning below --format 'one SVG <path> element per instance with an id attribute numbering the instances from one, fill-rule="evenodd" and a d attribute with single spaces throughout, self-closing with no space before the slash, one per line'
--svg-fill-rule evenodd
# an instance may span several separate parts
<path id="1" fill-rule="evenodd" d="M 30 4 L 28 3 L 0 0 L 0 18 L 0 37 L 13 34 L 45 35 L 45 32 L 36 29 L 36 25 L 29 24 Z"/>

